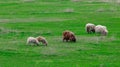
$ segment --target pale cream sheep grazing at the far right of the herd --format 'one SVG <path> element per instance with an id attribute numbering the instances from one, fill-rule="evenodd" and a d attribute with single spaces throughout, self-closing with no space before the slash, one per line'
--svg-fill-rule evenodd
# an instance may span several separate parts
<path id="1" fill-rule="evenodd" d="M 102 26 L 102 25 L 97 25 L 95 27 L 95 32 L 99 33 L 103 36 L 106 36 L 108 34 L 108 30 L 107 30 L 106 26 Z"/>

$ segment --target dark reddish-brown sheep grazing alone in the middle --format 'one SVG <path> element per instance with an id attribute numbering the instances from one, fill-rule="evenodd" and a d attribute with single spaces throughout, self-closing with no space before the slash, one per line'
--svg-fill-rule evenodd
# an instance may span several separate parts
<path id="1" fill-rule="evenodd" d="M 63 35 L 63 42 L 64 42 L 64 40 L 66 40 L 66 42 L 68 42 L 68 41 L 76 42 L 76 37 L 73 32 L 64 31 L 62 35 Z"/>

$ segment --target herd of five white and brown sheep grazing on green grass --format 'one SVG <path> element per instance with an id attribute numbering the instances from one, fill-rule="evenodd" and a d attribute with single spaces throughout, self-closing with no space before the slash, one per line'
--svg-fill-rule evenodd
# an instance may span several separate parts
<path id="1" fill-rule="evenodd" d="M 95 26 L 92 23 L 87 23 L 85 26 L 85 30 L 88 34 L 96 33 L 96 34 L 100 34 L 101 36 L 106 36 L 108 34 L 108 30 L 107 30 L 106 26 L 103 26 L 103 25 Z M 71 31 L 68 31 L 68 30 L 64 31 L 62 36 L 63 36 L 63 42 L 64 41 L 76 42 L 75 34 Z M 38 46 L 40 42 L 45 46 L 47 46 L 47 44 L 48 44 L 47 40 L 42 36 L 38 36 L 36 38 L 28 37 L 28 39 L 27 39 L 27 45 L 34 44 L 34 45 Z"/>

